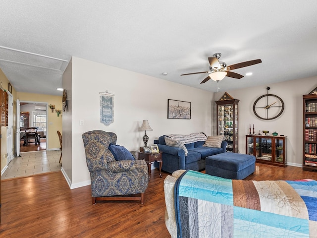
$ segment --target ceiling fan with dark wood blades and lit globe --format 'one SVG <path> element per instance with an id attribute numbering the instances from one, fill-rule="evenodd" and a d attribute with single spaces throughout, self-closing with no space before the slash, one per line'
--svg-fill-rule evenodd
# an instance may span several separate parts
<path id="1" fill-rule="evenodd" d="M 245 62 L 236 63 L 236 64 L 227 66 L 225 62 L 219 61 L 220 57 L 221 57 L 221 53 L 215 53 L 213 54 L 213 57 L 208 58 L 210 63 L 210 66 L 209 66 L 210 71 L 185 73 L 185 74 L 181 74 L 181 76 L 197 74 L 197 73 L 209 73 L 209 76 L 205 78 L 201 83 L 206 83 L 209 79 L 219 82 L 225 76 L 240 79 L 243 77 L 243 75 L 235 73 L 235 72 L 231 72 L 230 70 L 243 68 L 243 67 L 251 66 L 253 64 L 262 62 L 262 60 L 258 59 L 258 60 L 250 60 L 250 61 L 245 61 Z"/>

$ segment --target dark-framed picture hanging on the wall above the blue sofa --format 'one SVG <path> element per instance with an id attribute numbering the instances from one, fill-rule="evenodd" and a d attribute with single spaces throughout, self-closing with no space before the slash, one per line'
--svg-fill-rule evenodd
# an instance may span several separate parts
<path id="1" fill-rule="evenodd" d="M 167 119 L 191 119 L 191 102 L 168 99 Z"/>

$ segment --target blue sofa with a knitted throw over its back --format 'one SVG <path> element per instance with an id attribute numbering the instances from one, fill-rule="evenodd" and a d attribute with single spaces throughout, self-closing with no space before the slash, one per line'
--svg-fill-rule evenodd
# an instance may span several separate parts
<path id="1" fill-rule="evenodd" d="M 185 156 L 183 149 L 166 145 L 164 137 L 165 135 L 160 136 L 154 143 L 159 146 L 159 152 L 162 152 L 162 170 L 171 174 L 176 170 L 204 170 L 206 157 L 226 152 L 226 141 L 222 141 L 221 148 L 203 146 L 205 141 L 197 141 L 185 144 L 188 150 Z M 155 167 L 159 167 L 159 164 L 155 163 Z"/>

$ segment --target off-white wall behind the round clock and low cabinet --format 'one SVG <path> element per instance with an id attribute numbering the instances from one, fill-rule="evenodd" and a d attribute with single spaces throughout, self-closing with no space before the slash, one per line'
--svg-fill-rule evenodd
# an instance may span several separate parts
<path id="1" fill-rule="evenodd" d="M 243 80 L 243 79 L 240 79 Z M 256 79 L 255 79 L 256 80 Z M 266 87 L 271 89 L 269 93 L 279 96 L 284 101 L 283 114 L 272 120 L 262 120 L 253 113 L 254 101 L 266 94 Z M 246 134 L 249 133 L 249 124 L 254 124 L 255 132 L 269 130 L 276 131 L 279 135 L 287 136 L 287 163 L 292 166 L 302 166 L 303 153 L 303 95 L 310 93 L 317 87 L 317 77 L 297 79 L 282 83 L 250 87 L 239 90 L 227 91 L 233 98 L 239 101 L 239 153 L 246 153 Z M 216 101 L 224 92 L 215 94 Z M 213 115 L 216 113 L 213 105 Z M 214 128 L 216 129 L 216 128 Z"/>

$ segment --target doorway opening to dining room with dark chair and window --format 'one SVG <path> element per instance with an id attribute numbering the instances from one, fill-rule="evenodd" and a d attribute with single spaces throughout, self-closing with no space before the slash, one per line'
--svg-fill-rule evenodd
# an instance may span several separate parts
<path id="1" fill-rule="evenodd" d="M 47 149 L 47 103 L 41 102 L 20 102 L 20 140 L 17 146 L 20 152 L 41 151 Z M 25 129 L 36 127 L 39 135 L 39 142 L 35 144 L 26 143 Z"/>

